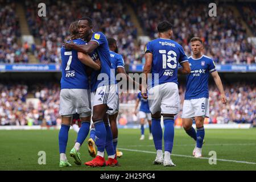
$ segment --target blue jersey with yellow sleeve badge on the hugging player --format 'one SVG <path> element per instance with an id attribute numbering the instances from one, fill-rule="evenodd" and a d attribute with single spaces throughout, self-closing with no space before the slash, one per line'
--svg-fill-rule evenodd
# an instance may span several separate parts
<path id="1" fill-rule="evenodd" d="M 95 49 L 98 57 L 101 60 L 101 70 L 100 75 L 97 77 L 96 87 L 116 84 L 114 71 L 112 69 L 110 54 L 109 54 L 109 44 L 106 36 L 102 32 L 93 32 L 92 39 L 90 41 L 95 41 L 98 43 L 98 47 Z"/>

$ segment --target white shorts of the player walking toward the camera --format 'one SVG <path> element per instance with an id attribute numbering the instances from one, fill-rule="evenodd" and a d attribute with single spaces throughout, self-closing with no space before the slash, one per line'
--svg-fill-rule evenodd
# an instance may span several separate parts
<path id="1" fill-rule="evenodd" d="M 182 118 L 193 118 L 196 116 L 209 117 L 209 113 L 208 98 L 184 100 Z"/>

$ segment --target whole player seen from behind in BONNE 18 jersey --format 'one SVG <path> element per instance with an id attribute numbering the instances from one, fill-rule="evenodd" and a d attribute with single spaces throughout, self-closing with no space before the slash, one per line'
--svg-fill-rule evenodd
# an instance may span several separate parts
<path id="1" fill-rule="evenodd" d="M 180 106 L 177 74 L 190 73 L 190 67 L 183 48 L 171 40 L 170 22 L 163 21 L 158 24 L 158 35 L 158 39 L 146 44 L 143 80 L 147 81 L 148 94 L 146 86 L 142 85 L 142 97 L 148 98 L 151 111 L 152 135 L 156 149 L 154 164 L 175 166 L 171 160 L 171 152 L 174 144 L 174 116 L 179 113 Z M 179 69 L 178 63 L 181 65 Z M 164 136 L 160 125 L 161 114 L 164 121 Z"/>

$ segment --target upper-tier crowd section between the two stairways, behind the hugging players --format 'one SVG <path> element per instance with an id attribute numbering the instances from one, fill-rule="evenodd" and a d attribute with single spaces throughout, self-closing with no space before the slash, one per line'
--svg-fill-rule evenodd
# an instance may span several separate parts
<path id="1" fill-rule="evenodd" d="M 47 18 L 37 16 L 38 3 L 26 1 L 26 17 L 32 35 L 42 42 L 36 46 L 35 55 L 41 63 L 59 63 L 61 44 L 68 40 L 71 22 L 84 15 L 94 20 L 94 31 L 118 40 L 119 53 L 125 60 L 141 59 L 134 52 L 137 28 L 130 21 L 125 3 L 119 1 L 50 1 Z M 104 17 L 104 19 L 102 19 Z"/>

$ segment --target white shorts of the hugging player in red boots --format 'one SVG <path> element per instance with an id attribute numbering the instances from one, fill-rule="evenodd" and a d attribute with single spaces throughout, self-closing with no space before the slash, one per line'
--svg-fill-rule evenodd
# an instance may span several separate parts
<path id="1" fill-rule="evenodd" d="M 108 106 L 108 111 L 106 113 L 111 114 L 117 110 L 118 107 L 117 85 L 112 84 L 101 86 L 97 88 L 94 96 L 91 96 L 90 98 L 92 102 L 92 108 L 96 105 L 106 104 Z"/>

